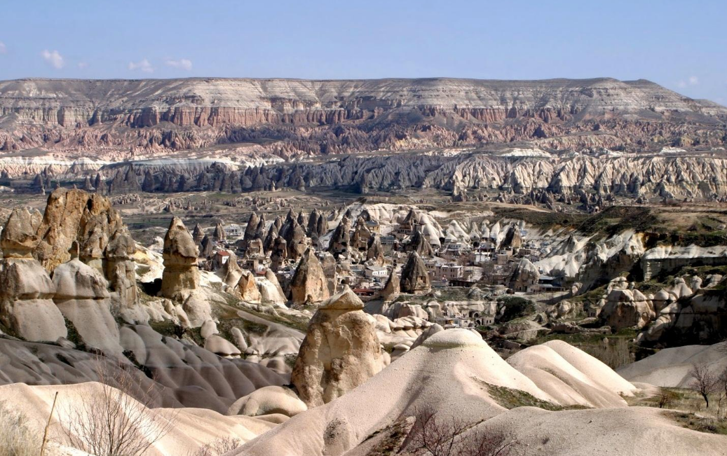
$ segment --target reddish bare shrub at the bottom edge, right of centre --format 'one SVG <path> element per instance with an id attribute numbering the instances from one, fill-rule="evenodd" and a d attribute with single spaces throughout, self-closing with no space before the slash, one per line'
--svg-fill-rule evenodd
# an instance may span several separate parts
<path id="1" fill-rule="evenodd" d="M 438 416 L 432 407 L 417 410 L 408 440 L 409 454 L 417 456 L 507 456 L 516 443 L 504 433 Z"/>

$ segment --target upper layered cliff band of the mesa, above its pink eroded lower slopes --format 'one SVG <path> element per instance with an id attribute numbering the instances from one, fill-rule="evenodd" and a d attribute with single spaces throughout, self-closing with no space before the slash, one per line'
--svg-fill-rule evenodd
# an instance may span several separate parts
<path id="1" fill-rule="evenodd" d="M 543 101 L 543 96 L 547 96 Z M 214 102 L 214 103 L 213 103 Z M 213 107 L 214 104 L 214 107 Z M 454 78 L 306 81 L 302 79 L 148 79 L 0 82 L 2 113 L 63 126 L 113 123 L 180 126 L 308 123 L 361 118 L 395 108 L 448 108 L 482 121 L 533 110 L 544 118 L 726 113 L 649 81 L 611 78 L 496 81 Z M 652 115 L 653 116 L 653 115 Z"/>

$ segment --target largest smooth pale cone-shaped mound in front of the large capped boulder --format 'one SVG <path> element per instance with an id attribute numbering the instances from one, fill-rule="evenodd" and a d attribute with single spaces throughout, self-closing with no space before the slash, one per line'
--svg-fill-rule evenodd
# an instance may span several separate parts
<path id="1" fill-rule="evenodd" d="M 566 353 L 562 347 L 556 348 Z M 557 353 L 555 349 L 550 352 L 551 358 Z M 573 354 L 566 353 L 566 356 L 583 361 Z M 595 360 L 595 363 L 595 367 L 581 365 L 579 377 L 591 388 L 588 390 L 591 396 L 608 397 L 610 391 L 611 400 L 615 401 L 614 390 L 595 394 L 598 383 L 587 376 L 598 372 L 600 362 Z M 545 362 L 545 365 L 555 365 L 555 362 Z M 563 357 L 560 365 L 563 371 L 576 371 Z M 558 382 L 563 384 L 561 380 Z M 567 396 L 555 398 L 539 388 L 537 382 L 507 364 L 478 335 L 468 330 L 446 330 L 436 333 L 348 394 L 296 415 L 233 454 L 342 455 L 376 431 L 413 415 L 417 407 L 424 406 L 478 423 L 505 411 L 488 394 L 488 384 L 526 391 L 556 404 L 579 403 Z M 308 437 L 300 439 L 300 436 Z"/>

